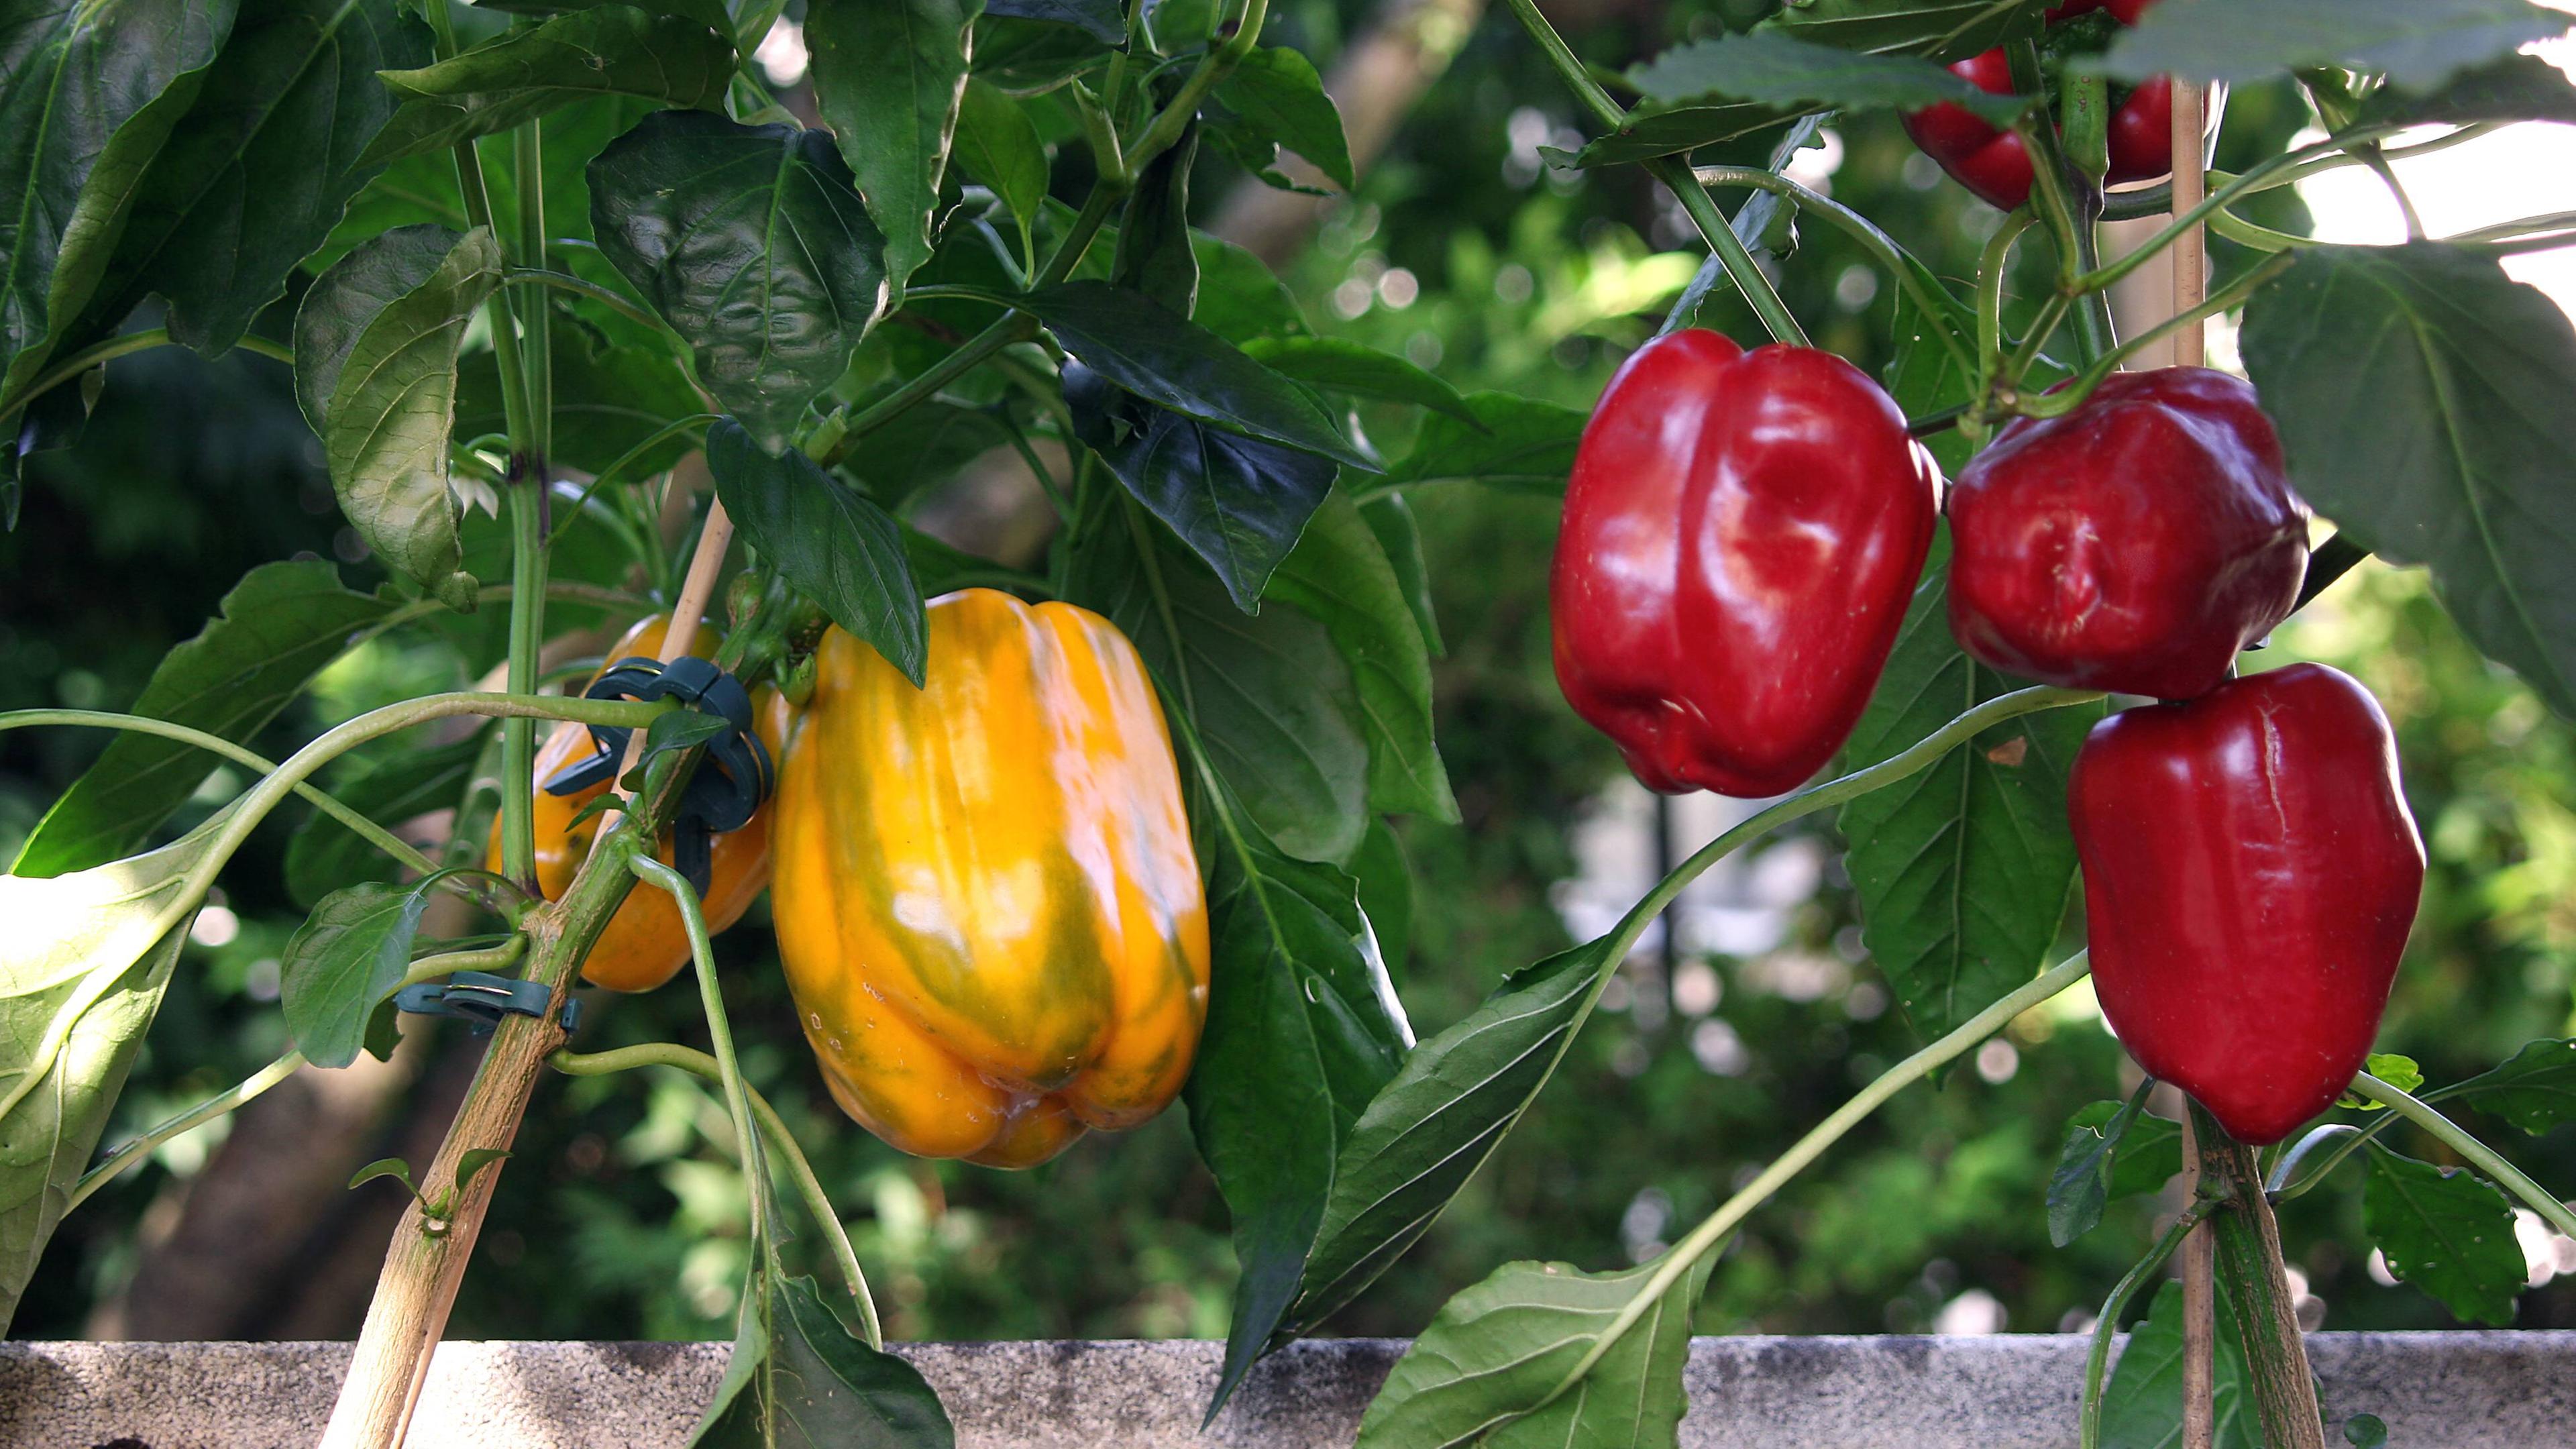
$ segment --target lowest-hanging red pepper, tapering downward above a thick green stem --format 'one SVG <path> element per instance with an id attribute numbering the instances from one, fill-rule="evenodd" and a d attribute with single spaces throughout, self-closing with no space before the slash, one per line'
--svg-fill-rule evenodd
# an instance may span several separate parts
<path id="1" fill-rule="evenodd" d="M 2094 727 L 2066 789 L 2092 977 L 2138 1065 L 2280 1142 L 2370 1055 L 2424 843 L 2370 691 L 2285 665 Z"/>

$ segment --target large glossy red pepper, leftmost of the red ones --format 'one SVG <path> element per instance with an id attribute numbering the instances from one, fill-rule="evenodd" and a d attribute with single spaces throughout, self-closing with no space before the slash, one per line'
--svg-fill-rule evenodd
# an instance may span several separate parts
<path id="1" fill-rule="evenodd" d="M 1932 456 L 1852 364 L 1656 338 L 1574 456 L 1556 683 L 1651 789 L 1793 789 L 1868 706 L 1937 505 Z"/>

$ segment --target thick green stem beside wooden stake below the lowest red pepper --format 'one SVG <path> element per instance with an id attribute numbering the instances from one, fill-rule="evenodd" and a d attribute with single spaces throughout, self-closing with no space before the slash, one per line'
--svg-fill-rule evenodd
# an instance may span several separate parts
<path id="1" fill-rule="evenodd" d="M 2254 1150 L 2228 1137 L 2197 1101 L 2192 1104 L 2192 1145 L 2200 1160 L 2200 1191 L 2223 1212 L 2210 1217 L 2218 1276 L 2236 1305 L 2236 1328 L 2246 1348 L 2246 1397 L 2262 1418 L 2272 1449 L 2326 1449 L 2324 1415 L 2316 1408 L 2316 1374 L 2298 1330 L 2298 1299 L 2280 1261 L 2280 1225 L 2262 1196 L 2262 1168 Z"/>

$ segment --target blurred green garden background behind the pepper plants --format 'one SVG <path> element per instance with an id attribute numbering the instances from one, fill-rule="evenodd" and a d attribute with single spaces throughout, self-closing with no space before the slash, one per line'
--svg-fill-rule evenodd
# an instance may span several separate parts
<path id="1" fill-rule="evenodd" d="M 1752 23 L 1767 3 L 1551 0 L 1546 10 L 1587 59 L 1618 70 L 1677 39 Z M 762 49 L 791 101 L 801 75 L 793 13 Z M 1577 111 L 1499 5 L 1278 0 L 1273 15 L 1267 39 L 1303 49 L 1342 95 L 1363 183 L 1355 196 L 1311 201 L 1203 160 L 1198 222 L 1265 255 L 1319 333 L 1399 351 L 1461 389 L 1587 407 L 1698 266 L 1669 199 L 1636 170 L 1548 165 L 1551 147 L 1579 144 Z M 2277 147 L 2308 121 L 2287 88 L 2239 90 L 2218 160 Z M 577 121 L 549 121 L 549 134 L 577 131 Z M 2576 206 L 2545 196 L 2576 186 L 2568 139 L 2532 126 L 2439 157 L 2427 168 L 2439 175 L 2416 191 L 2434 232 L 2499 219 L 2506 206 Z M 1762 150 L 1723 160 L 1759 162 Z M 1968 276 L 1996 222 L 1942 180 L 1893 119 L 1832 126 L 1795 173 L 1953 278 Z M 2269 193 L 2254 214 L 2285 229 L 2393 240 L 2385 193 L 2367 178 L 2347 183 L 2357 175 Z M 1079 199 L 1084 183 L 1079 147 L 1064 147 L 1056 193 Z M 2221 268 L 2236 260 L 2218 248 Z M 2576 297 L 2553 258 L 2517 266 Z M 1886 364 L 1891 291 L 1844 237 L 1803 227 L 1777 273 L 1819 345 L 1865 369 Z M 281 307 L 265 327 L 281 333 L 289 315 Z M 1757 335 L 1731 299 L 1705 320 L 1741 340 Z M 2213 356 L 2223 361 L 2228 348 L 2221 327 Z M 1370 410 L 1363 425 L 1401 451 L 1401 415 Z M 1015 503 L 1025 480 L 1012 469 L 976 462 L 920 498 L 914 516 L 992 549 L 1033 549 L 1043 534 L 1025 526 Z M 1445 485 L 1417 490 L 1412 503 L 1445 637 L 1437 724 L 1463 822 L 1399 825 L 1417 882 L 1412 920 L 1409 931 L 1381 931 L 1409 941 L 1399 985 L 1417 1031 L 1430 1034 L 1504 972 L 1569 946 L 1571 931 L 1600 931 L 1646 887 L 1659 856 L 1677 859 L 1734 815 L 1705 797 L 1659 812 L 1558 699 L 1546 619 L 1551 498 Z M 613 539 L 590 529 L 592 539 L 567 536 L 564 549 L 611 559 L 598 567 L 613 575 Z M 15 534 L 0 534 L 0 709 L 129 704 L 152 663 L 201 627 L 242 570 L 283 557 L 340 559 L 358 588 L 381 578 L 332 511 L 286 369 L 247 353 L 206 364 L 175 348 L 118 361 L 85 443 L 33 464 L 26 516 Z M 574 611 L 564 621 L 587 624 Z M 283 753 L 386 699 L 466 686 L 497 657 L 492 624 L 361 650 L 260 745 Z M 603 642 L 592 634 L 587 650 Z M 580 639 L 564 650 L 580 652 Z M 2432 879 L 2383 1049 L 2419 1057 L 2442 1083 L 2532 1036 L 2568 1034 L 2568 724 L 2458 637 L 2419 572 L 2375 562 L 2262 657 L 2354 670 L 2401 732 Z M 59 730 L 0 735 L 0 859 L 100 745 Z M 196 812 L 242 784 L 216 771 Z M 283 1049 L 278 949 L 299 920 L 278 884 L 289 825 L 252 841 L 222 902 L 201 915 L 111 1142 Z M 1510 1258 L 1641 1261 L 1909 1052 L 1914 1039 L 1860 949 L 1837 856 L 1829 817 L 1811 820 L 1687 895 L 1669 951 L 1662 933 L 1649 938 L 1520 1132 L 1332 1330 L 1414 1333 L 1448 1294 Z M 2081 920 L 2069 920 L 2069 949 L 2076 941 Z M 1084 1140 L 1033 1173 L 902 1158 L 824 1098 L 762 910 L 729 931 L 719 954 L 744 1065 L 853 1222 L 894 1336 L 1224 1336 L 1234 1279 L 1226 1209 L 1180 1111 Z M 477 1055 L 459 1029 L 417 1018 L 407 1029 L 394 1062 L 304 1073 L 240 1119 L 170 1142 L 82 1207 L 54 1240 L 15 1330 L 350 1336 L 399 1196 L 384 1183 L 343 1183 L 371 1158 L 428 1160 Z M 665 990 L 592 1003 L 582 1047 L 647 1039 L 701 1042 L 696 998 Z M 1899 1098 L 1762 1209 L 1718 1266 L 1700 1330 L 2089 1323 L 2148 1243 L 2159 1204 L 2115 1204 L 2097 1232 L 2053 1250 L 2040 1194 L 2066 1116 L 2133 1080 L 2081 990 L 2032 1011 L 1971 1070 Z M 744 1209 L 726 1142 L 721 1104 L 698 1080 L 629 1073 L 546 1083 L 451 1333 L 729 1336 Z M 2504 1145 L 2540 1181 L 2576 1186 L 2576 1134 Z M 2434 1155 L 2421 1140 L 2409 1150 Z M 2311 1294 L 2306 1315 L 2329 1328 L 2447 1325 L 2439 1305 L 2372 1263 L 2357 1186 L 2360 1171 L 2344 1168 L 2285 1212 L 2287 1253 Z M 2576 1271 L 2576 1243 L 2530 1220 L 2524 1248 L 2535 1289 L 2519 1323 L 2576 1325 L 2576 1279 L 2555 1279 Z"/>

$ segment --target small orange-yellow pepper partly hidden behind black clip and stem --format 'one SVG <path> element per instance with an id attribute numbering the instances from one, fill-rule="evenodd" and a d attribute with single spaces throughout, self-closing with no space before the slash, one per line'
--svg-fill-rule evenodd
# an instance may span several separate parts
<path id="1" fill-rule="evenodd" d="M 670 621 L 659 614 L 639 621 L 626 632 L 626 637 L 608 647 L 605 665 L 631 657 L 659 657 L 667 624 Z M 716 632 L 701 624 L 698 637 L 688 642 L 688 652 L 701 660 L 714 655 Z M 788 724 L 788 701 L 775 688 L 755 688 L 752 727 L 760 732 L 760 743 L 770 748 L 770 755 L 786 745 Z M 580 815 L 585 804 L 598 799 L 611 781 L 600 781 L 577 794 L 544 792 L 546 779 L 564 766 L 587 758 L 590 750 L 590 730 L 569 722 L 556 724 L 554 732 L 546 735 L 546 743 L 536 750 L 536 890 L 546 900 L 562 900 L 564 892 L 572 890 L 572 877 L 580 874 L 582 861 L 590 859 L 590 843 L 600 835 L 600 825 L 608 820 L 608 815 L 592 812 L 580 825 L 572 822 L 572 817 Z M 670 833 L 662 835 L 657 856 L 662 864 L 672 864 Z M 487 846 L 484 869 L 500 869 L 500 817 L 492 820 L 492 841 Z M 706 931 L 714 936 L 739 920 L 768 884 L 770 810 L 762 807 L 760 815 L 752 815 L 750 825 L 716 835 L 706 900 L 701 902 L 706 910 Z M 618 913 L 608 918 L 600 938 L 590 946 L 590 957 L 582 962 L 582 980 L 608 990 L 652 990 L 680 975 L 680 967 L 685 964 L 688 926 L 680 920 L 680 908 L 670 900 L 667 890 L 636 884 L 636 890 L 626 892 L 626 902 L 618 905 Z"/>

